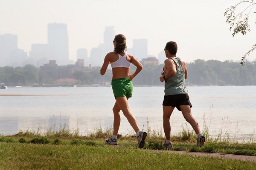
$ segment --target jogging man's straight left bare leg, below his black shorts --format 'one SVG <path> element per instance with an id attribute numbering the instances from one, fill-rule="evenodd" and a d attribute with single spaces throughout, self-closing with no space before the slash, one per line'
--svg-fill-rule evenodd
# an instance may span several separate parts
<path id="1" fill-rule="evenodd" d="M 163 130 L 166 136 L 166 140 L 170 140 L 170 133 L 171 133 L 170 117 L 172 115 L 173 110 L 174 110 L 174 107 L 172 106 L 163 106 Z"/>

